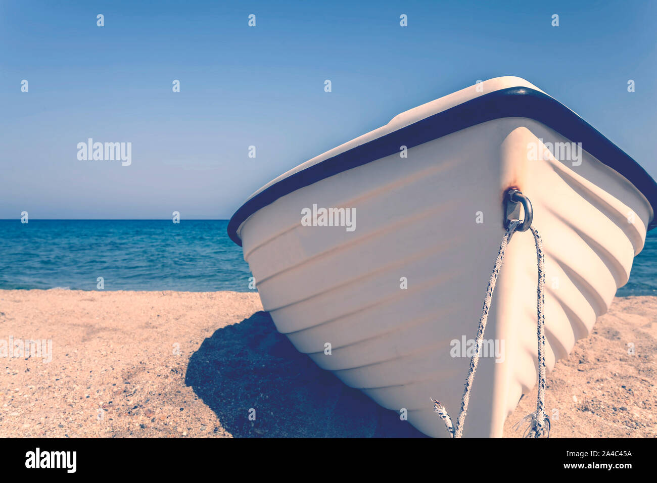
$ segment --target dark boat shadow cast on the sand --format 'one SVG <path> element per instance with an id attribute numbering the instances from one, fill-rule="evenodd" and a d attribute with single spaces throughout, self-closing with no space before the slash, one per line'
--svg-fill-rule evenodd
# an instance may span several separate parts
<path id="1" fill-rule="evenodd" d="M 267 312 L 206 338 L 185 383 L 236 437 L 423 437 L 297 352 Z"/>

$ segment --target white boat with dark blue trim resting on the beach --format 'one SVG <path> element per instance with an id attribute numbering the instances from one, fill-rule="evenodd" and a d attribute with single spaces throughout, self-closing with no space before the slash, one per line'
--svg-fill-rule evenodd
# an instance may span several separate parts
<path id="1" fill-rule="evenodd" d="M 476 335 L 512 187 L 532 202 L 543 237 L 551 370 L 627 282 L 656 225 L 657 185 L 526 80 L 478 83 L 300 164 L 248 198 L 229 236 L 300 352 L 405 409 L 424 434 L 447 437 L 430 398 L 458 413 L 471 354 L 463 342 Z M 466 437 L 501 436 L 537 380 L 536 281 L 532 235 L 518 233 L 484 336 L 499 352 L 479 361 Z"/>

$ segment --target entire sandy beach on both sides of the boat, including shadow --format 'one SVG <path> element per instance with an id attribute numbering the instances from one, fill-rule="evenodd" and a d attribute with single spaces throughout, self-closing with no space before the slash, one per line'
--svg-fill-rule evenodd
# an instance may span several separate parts
<path id="1" fill-rule="evenodd" d="M 614 300 L 548 373 L 551 437 L 657 436 L 656 323 L 657 297 Z M 256 293 L 0 290 L 10 337 L 52 360 L 0 357 L 1 437 L 422 436 L 298 354 Z"/>

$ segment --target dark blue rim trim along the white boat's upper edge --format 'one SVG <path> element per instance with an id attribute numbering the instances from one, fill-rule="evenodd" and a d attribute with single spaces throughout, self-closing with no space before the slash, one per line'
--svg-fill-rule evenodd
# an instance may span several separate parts
<path id="1" fill-rule="evenodd" d="M 237 229 L 242 222 L 260 208 L 292 191 L 390 156 L 399 152 L 401 145 L 411 149 L 466 127 L 500 118 L 530 118 L 551 127 L 571 141 L 581 142 L 582 149 L 627 178 L 648 199 L 653 212 L 656 211 L 657 183 L 635 160 L 549 95 L 528 87 L 509 87 L 470 99 L 281 179 L 248 200 L 235 212 L 228 223 L 228 236 L 242 246 L 242 241 L 237 236 Z M 648 230 L 657 226 L 656 218 L 650 220 Z"/>

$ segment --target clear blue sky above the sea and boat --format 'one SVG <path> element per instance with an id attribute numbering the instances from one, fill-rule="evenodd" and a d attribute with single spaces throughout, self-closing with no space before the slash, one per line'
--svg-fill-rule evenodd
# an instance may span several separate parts
<path id="1" fill-rule="evenodd" d="M 648 1 L 2 1 L 0 218 L 229 218 L 297 164 L 504 75 L 657 177 L 656 16 Z M 131 142 L 131 166 L 78 160 L 89 137 Z"/>

